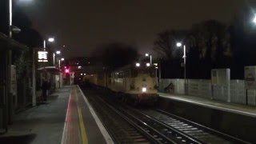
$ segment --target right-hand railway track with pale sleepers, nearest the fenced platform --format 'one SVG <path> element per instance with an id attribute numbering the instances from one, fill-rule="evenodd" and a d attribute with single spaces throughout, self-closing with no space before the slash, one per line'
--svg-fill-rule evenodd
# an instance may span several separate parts
<path id="1" fill-rule="evenodd" d="M 163 122 L 176 130 L 180 130 L 193 138 L 198 139 L 202 143 L 249 143 L 241 139 L 234 138 L 230 135 L 223 134 L 216 130 L 207 128 L 206 126 L 198 125 L 184 118 L 180 118 L 174 114 L 166 113 L 162 110 L 138 110 L 138 113 L 145 114 L 150 118 L 154 118 L 159 122 Z"/>

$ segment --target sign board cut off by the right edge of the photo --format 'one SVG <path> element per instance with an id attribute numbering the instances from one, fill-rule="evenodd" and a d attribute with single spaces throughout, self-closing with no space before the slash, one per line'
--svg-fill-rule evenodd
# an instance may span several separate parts
<path id="1" fill-rule="evenodd" d="M 247 90 L 256 89 L 256 66 L 245 66 L 245 86 Z"/>

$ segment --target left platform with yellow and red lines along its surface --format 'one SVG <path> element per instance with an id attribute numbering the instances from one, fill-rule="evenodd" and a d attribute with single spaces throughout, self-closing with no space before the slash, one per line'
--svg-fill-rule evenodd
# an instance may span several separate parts
<path id="1" fill-rule="evenodd" d="M 65 86 L 48 101 L 17 114 L 0 143 L 113 143 L 79 86 Z"/>

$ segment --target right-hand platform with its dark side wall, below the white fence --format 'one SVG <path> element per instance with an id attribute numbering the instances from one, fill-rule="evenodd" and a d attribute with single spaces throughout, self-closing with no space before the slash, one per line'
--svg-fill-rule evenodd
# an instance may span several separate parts
<path id="1" fill-rule="evenodd" d="M 159 93 L 157 108 L 210 129 L 256 143 L 256 107 L 186 95 Z"/>

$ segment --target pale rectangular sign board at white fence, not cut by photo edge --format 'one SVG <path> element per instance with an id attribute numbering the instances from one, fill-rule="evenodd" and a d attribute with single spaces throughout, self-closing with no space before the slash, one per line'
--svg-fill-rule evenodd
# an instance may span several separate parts
<path id="1" fill-rule="evenodd" d="M 211 70 L 211 83 L 213 85 L 229 85 L 230 69 Z"/>

